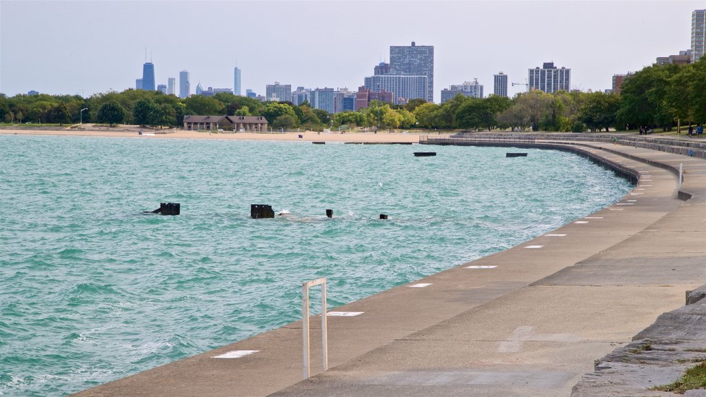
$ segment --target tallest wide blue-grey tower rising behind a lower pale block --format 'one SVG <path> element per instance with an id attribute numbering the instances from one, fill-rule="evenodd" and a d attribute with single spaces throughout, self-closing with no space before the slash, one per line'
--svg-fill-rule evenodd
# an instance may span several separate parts
<path id="1" fill-rule="evenodd" d="M 426 76 L 426 102 L 434 100 L 433 45 L 390 46 L 390 74 Z M 411 99 L 411 98 L 410 98 Z"/>

